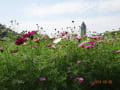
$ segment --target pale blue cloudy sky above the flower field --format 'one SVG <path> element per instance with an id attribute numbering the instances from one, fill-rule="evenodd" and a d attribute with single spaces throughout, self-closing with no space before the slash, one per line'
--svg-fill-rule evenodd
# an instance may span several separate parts
<path id="1" fill-rule="evenodd" d="M 88 31 L 104 32 L 120 28 L 120 0 L 0 0 L 0 23 L 19 22 L 19 32 L 78 27 L 84 21 Z"/>

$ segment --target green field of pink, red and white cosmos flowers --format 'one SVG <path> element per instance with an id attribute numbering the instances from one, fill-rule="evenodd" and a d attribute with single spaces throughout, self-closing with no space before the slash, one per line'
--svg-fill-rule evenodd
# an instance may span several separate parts
<path id="1" fill-rule="evenodd" d="M 0 42 L 0 90 L 120 90 L 120 32 Z"/>

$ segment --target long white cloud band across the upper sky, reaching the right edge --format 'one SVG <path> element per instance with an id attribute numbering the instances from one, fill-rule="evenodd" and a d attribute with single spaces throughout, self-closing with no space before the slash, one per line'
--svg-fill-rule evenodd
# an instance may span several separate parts
<path id="1" fill-rule="evenodd" d="M 29 7 L 25 7 L 25 16 L 39 16 L 48 17 L 51 15 L 64 15 L 64 14 L 82 14 L 96 9 L 98 13 L 107 13 L 111 11 L 120 11 L 120 0 L 102 0 L 102 1 L 69 1 L 61 2 L 53 5 L 40 6 L 32 4 Z"/>

